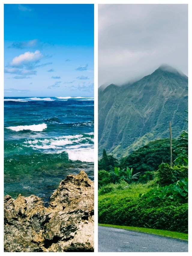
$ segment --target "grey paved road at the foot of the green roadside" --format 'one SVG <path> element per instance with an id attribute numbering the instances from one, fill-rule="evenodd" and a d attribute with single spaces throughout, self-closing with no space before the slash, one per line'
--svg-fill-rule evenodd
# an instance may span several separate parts
<path id="1" fill-rule="evenodd" d="M 99 226 L 98 251 L 187 252 L 188 242 L 132 230 Z"/>

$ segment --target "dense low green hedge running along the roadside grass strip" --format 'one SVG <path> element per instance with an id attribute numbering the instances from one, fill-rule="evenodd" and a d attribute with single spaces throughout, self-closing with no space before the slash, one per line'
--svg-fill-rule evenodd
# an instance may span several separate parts
<path id="1" fill-rule="evenodd" d="M 112 192 L 98 197 L 98 221 L 187 233 L 188 204 L 170 199 L 150 202 L 148 198 L 128 198 Z"/>

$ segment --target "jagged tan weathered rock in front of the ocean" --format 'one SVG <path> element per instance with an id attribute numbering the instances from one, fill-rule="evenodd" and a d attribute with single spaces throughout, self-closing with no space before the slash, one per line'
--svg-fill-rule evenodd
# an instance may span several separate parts
<path id="1" fill-rule="evenodd" d="M 94 183 L 84 171 L 68 175 L 46 208 L 31 195 L 4 197 L 4 251 L 94 250 Z"/>

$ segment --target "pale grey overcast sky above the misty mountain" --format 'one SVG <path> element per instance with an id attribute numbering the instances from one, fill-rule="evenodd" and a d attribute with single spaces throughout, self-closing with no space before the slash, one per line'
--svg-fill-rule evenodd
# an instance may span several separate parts
<path id="1" fill-rule="evenodd" d="M 98 85 L 137 80 L 161 64 L 188 75 L 187 22 L 187 5 L 99 5 Z"/>

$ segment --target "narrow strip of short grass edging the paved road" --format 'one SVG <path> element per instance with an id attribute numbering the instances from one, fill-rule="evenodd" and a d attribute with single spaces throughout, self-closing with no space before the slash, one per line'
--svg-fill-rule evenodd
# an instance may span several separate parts
<path id="1" fill-rule="evenodd" d="M 188 234 L 186 234 L 186 233 L 179 233 L 179 232 L 145 228 L 145 227 L 128 227 L 128 226 L 118 226 L 118 225 L 111 225 L 111 224 L 98 224 L 98 225 L 104 226 L 104 227 L 115 227 L 115 228 L 139 231 L 139 232 L 143 232 L 143 233 L 155 234 L 155 235 L 159 235 L 159 236 L 167 236 L 167 237 L 178 238 L 178 239 L 182 239 L 182 240 L 188 240 Z"/>

